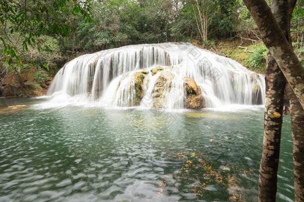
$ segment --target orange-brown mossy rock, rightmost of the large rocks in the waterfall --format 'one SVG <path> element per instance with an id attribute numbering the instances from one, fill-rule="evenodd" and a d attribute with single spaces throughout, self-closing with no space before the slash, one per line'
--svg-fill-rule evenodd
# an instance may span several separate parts
<path id="1" fill-rule="evenodd" d="M 184 89 L 184 108 L 201 109 L 204 107 L 202 92 L 194 79 L 184 78 Z"/>

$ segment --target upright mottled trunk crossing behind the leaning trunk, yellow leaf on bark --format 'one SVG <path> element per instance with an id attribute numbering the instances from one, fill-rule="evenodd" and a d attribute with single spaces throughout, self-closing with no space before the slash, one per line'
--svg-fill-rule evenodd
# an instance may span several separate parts
<path id="1" fill-rule="evenodd" d="M 271 10 L 288 37 L 288 1 L 272 0 Z M 286 79 L 275 58 L 268 52 L 265 74 L 263 152 L 259 175 L 259 202 L 276 202 L 281 131 Z"/>

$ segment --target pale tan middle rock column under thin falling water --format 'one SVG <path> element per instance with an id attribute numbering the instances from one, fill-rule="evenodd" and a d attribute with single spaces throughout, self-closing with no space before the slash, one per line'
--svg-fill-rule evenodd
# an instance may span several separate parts
<path id="1" fill-rule="evenodd" d="M 169 71 L 162 71 L 157 78 L 152 93 L 153 107 L 163 108 L 166 105 L 168 92 L 171 89 L 174 75 Z"/>

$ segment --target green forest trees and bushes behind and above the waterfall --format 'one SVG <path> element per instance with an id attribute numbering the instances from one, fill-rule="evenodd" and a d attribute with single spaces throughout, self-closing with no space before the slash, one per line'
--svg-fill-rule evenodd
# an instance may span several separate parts
<path id="1" fill-rule="evenodd" d="M 292 20 L 304 63 L 304 0 Z M 242 0 L 0 0 L 0 83 L 37 69 L 43 83 L 80 54 L 128 44 L 192 42 L 263 73 L 267 50 Z"/>

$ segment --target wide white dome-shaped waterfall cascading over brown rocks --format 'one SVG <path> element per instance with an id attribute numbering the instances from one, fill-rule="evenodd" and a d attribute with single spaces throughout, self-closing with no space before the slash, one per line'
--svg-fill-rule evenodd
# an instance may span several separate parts
<path id="1" fill-rule="evenodd" d="M 199 89 L 186 89 L 186 80 Z M 193 91 L 201 93 L 199 108 L 264 104 L 265 81 L 238 62 L 190 43 L 143 44 L 71 60 L 56 74 L 48 95 L 54 102 L 95 101 L 102 107 L 183 109 Z"/>

